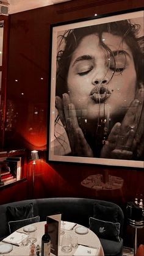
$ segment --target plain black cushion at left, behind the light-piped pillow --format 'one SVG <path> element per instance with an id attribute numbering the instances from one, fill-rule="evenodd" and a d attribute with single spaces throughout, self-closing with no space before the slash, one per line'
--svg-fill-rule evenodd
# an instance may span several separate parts
<path id="1" fill-rule="evenodd" d="M 7 220 L 20 221 L 20 219 L 28 219 L 34 217 L 33 203 L 27 205 L 15 205 L 7 207 Z"/>

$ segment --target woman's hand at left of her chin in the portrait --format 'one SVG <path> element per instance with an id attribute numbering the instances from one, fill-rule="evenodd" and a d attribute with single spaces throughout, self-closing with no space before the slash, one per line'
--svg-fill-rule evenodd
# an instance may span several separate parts
<path id="1" fill-rule="evenodd" d="M 77 122 L 74 104 L 70 103 L 70 97 L 67 93 L 63 94 L 63 99 L 56 96 L 56 108 L 67 132 L 72 155 L 93 157 L 92 149 L 85 140 L 84 134 Z"/>

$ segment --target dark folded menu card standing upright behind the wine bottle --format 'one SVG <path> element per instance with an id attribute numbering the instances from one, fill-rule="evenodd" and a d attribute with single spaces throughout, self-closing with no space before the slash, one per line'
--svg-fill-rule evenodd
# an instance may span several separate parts
<path id="1" fill-rule="evenodd" d="M 48 223 L 48 233 L 51 236 L 51 253 L 58 255 L 59 241 L 60 241 L 60 222 L 62 214 L 53 214 L 46 216 L 46 223 Z"/>

